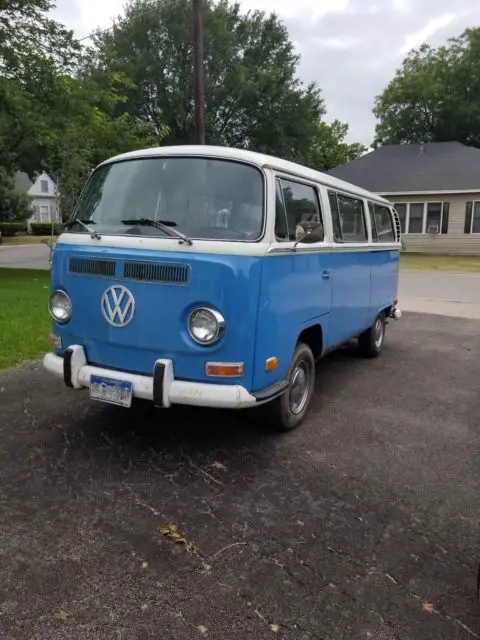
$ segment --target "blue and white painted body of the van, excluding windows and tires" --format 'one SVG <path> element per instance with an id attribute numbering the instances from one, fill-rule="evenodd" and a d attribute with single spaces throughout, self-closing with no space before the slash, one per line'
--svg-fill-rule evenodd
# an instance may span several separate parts
<path id="1" fill-rule="evenodd" d="M 318 358 L 368 331 L 379 314 L 385 320 L 400 315 L 399 225 L 387 201 L 304 167 L 234 149 L 166 147 L 105 164 L 130 157 L 186 156 L 225 158 L 258 168 L 264 180 L 259 238 L 235 242 L 192 236 L 185 241 L 175 235 L 175 227 L 153 232 L 153 223 L 145 220 L 138 223 L 141 232 L 115 228 L 109 233 L 100 214 L 98 226 L 94 215 L 77 224 L 76 211 L 73 228 L 59 237 L 53 255 L 54 353 L 44 358 L 45 368 L 65 384 L 90 388 L 94 399 L 124 406 L 138 397 L 164 407 L 252 407 L 288 392 L 302 336 Z M 291 234 L 277 237 L 275 190 L 283 179 L 298 181 L 314 194 L 312 206 L 318 202 L 322 217 L 319 242 L 303 244 Z M 287 196 L 289 188 L 284 188 Z M 340 195 L 332 196 L 332 190 Z M 335 241 L 330 205 L 332 197 L 340 196 L 357 199 L 345 200 L 346 213 L 340 218 L 345 228 L 352 220 L 358 227 L 355 216 L 363 216 L 364 241 L 358 241 L 355 229 L 355 242 Z M 360 201 L 363 213 L 358 213 Z M 391 216 L 387 242 L 380 242 L 378 234 L 374 238 L 375 206 L 383 220 L 386 210 Z M 225 225 L 224 218 L 220 222 Z M 189 324 L 192 314 L 204 308 L 222 318 L 222 333 L 211 344 L 199 343 Z M 210 326 L 212 316 L 202 322 Z M 109 384 L 113 386 L 103 396 L 92 393 L 94 386 L 98 391 L 98 385 Z"/>

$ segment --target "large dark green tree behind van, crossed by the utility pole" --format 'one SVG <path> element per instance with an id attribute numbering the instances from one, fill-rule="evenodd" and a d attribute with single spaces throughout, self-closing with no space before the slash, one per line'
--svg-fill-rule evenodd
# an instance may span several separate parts
<path id="1" fill-rule="evenodd" d="M 242 14 L 238 3 L 205 0 L 206 140 L 302 161 L 324 104 L 296 77 L 299 61 L 276 15 Z M 168 144 L 193 140 L 191 2 L 130 0 L 109 32 L 98 33 L 97 74 L 132 81 L 122 108 L 163 123 Z"/>

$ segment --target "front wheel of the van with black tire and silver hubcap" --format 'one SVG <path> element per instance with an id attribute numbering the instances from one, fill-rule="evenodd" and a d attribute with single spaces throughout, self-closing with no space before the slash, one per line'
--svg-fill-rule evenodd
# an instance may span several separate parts
<path id="1" fill-rule="evenodd" d="M 315 359 L 310 347 L 303 342 L 297 344 L 288 372 L 288 381 L 287 390 L 264 407 L 265 417 L 275 431 L 291 431 L 300 426 L 313 397 Z"/>

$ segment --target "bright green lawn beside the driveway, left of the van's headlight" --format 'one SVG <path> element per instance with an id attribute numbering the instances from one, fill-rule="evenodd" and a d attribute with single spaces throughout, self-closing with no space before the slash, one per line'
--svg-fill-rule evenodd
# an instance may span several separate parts
<path id="1" fill-rule="evenodd" d="M 0 269 L 0 369 L 50 351 L 50 272 Z"/>

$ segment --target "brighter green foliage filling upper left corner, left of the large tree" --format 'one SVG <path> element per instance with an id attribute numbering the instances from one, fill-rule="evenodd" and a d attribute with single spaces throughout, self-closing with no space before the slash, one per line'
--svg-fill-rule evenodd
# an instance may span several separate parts
<path id="1" fill-rule="evenodd" d="M 165 128 L 122 108 L 131 82 L 92 75 L 91 54 L 51 20 L 50 0 L 0 0 L 0 164 L 60 183 L 68 215 L 89 171 L 109 156 L 160 144 Z"/>

